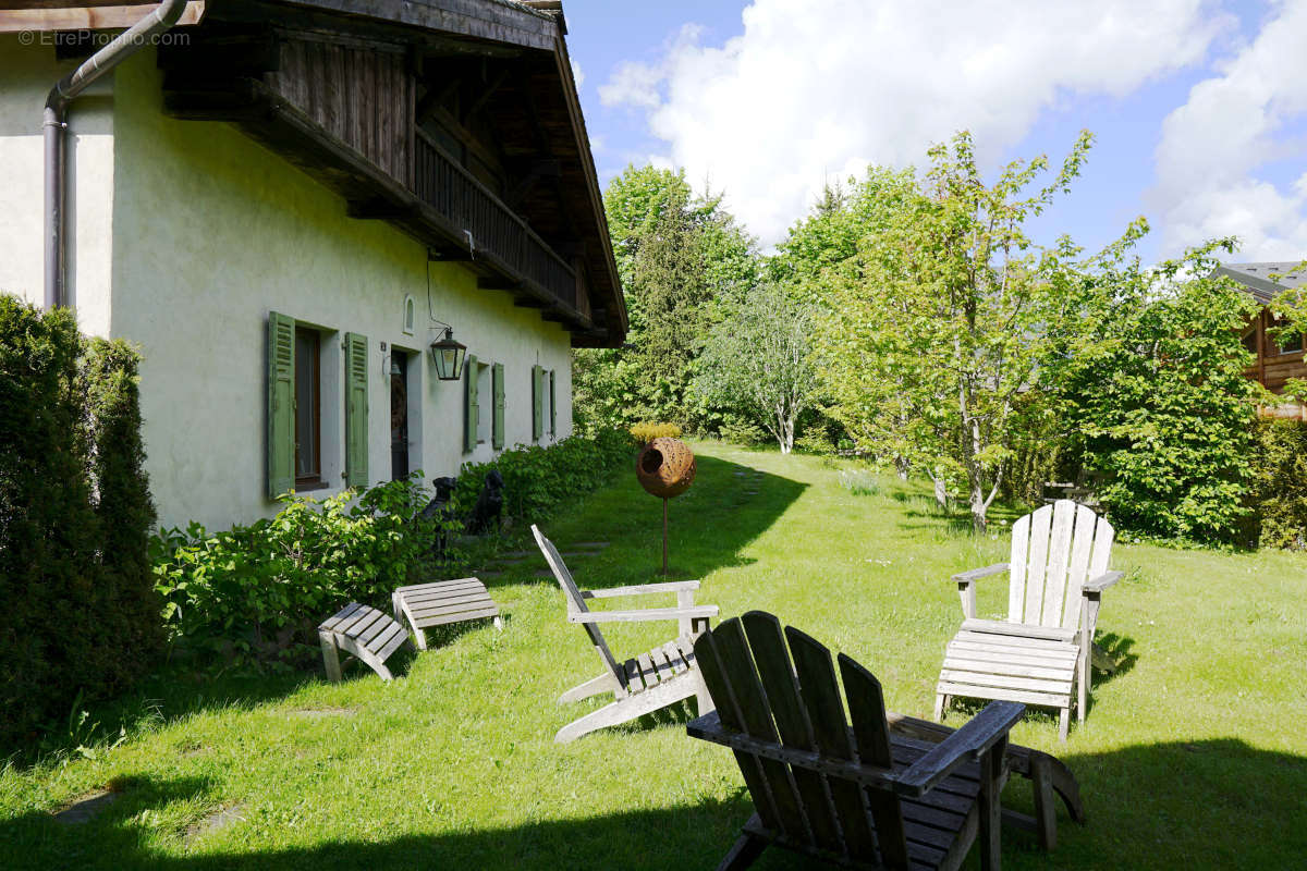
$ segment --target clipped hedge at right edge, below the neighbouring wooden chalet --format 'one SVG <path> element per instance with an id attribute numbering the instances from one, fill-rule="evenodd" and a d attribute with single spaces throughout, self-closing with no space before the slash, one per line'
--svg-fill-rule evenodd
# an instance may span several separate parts
<path id="1" fill-rule="evenodd" d="M 1307 423 L 1261 419 L 1253 428 L 1253 504 L 1263 547 L 1307 548 Z"/>

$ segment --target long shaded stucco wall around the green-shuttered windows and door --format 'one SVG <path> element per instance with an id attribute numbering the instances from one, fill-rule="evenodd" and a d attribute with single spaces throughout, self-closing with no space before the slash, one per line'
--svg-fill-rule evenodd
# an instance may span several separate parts
<path id="1" fill-rule="evenodd" d="M 148 470 L 159 522 L 210 528 L 276 509 L 265 496 L 265 336 L 269 311 L 332 330 L 323 341 L 323 474 L 344 462 L 340 340 L 369 340 L 369 473 L 391 473 L 389 376 L 380 342 L 423 350 L 426 249 L 375 221 L 226 124 L 161 114 L 153 51 L 116 72 L 111 332 L 139 342 Z M 418 329 L 403 333 L 404 299 Z M 435 317 L 482 362 L 505 364 L 506 443 L 531 441 L 531 367 L 557 371 L 558 437 L 571 431 L 569 334 L 456 264 L 430 265 Z M 329 338 L 329 341 L 327 341 Z M 463 453 L 463 385 L 410 356 L 410 465 L 427 478 L 486 460 Z M 482 396 L 482 413 L 491 401 Z M 549 441 L 546 435 L 545 441 Z"/>

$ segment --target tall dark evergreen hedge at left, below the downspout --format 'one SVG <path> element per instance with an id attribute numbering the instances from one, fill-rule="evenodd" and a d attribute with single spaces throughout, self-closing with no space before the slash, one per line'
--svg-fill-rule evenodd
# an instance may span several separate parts
<path id="1" fill-rule="evenodd" d="M 0 294 L 0 746 L 125 688 L 162 637 L 136 353 Z"/>

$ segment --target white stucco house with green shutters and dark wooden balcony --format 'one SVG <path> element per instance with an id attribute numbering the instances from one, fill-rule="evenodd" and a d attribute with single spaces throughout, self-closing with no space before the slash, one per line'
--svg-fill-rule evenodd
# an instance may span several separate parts
<path id="1" fill-rule="evenodd" d="M 0 10 L 0 290 L 140 345 L 159 522 L 567 436 L 571 349 L 626 309 L 561 5 L 170 3 L 44 114 L 156 7 Z"/>

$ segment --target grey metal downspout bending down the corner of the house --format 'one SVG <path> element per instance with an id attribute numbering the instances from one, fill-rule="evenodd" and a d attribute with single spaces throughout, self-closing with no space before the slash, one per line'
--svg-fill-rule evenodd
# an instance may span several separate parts
<path id="1" fill-rule="evenodd" d="M 150 43 L 178 22 L 187 0 L 163 0 L 152 13 L 120 33 L 112 42 L 88 57 L 60 78 L 46 98 L 42 132 L 46 145 L 46 308 L 68 304 L 67 232 L 68 232 L 68 106 L 91 82 L 110 72 L 139 48 Z"/>

